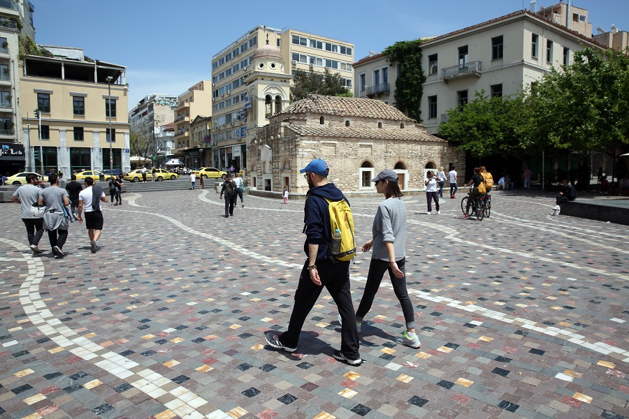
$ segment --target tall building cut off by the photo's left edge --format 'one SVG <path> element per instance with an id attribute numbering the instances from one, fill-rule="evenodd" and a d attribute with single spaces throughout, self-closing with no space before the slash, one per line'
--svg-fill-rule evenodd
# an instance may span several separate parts
<path id="1" fill-rule="evenodd" d="M 17 64 L 20 36 L 35 38 L 35 8 L 27 0 L 0 1 L 0 173 L 24 170 L 20 78 Z M 9 151 L 11 150 L 11 151 Z"/>

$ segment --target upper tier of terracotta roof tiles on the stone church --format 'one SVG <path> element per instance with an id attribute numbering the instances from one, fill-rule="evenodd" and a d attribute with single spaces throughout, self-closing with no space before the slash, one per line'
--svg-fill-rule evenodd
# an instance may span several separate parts
<path id="1" fill-rule="evenodd" d="M 289 105 L 282 112 L 273 115 L 294 115 L 315 113 L 319 115 L 340 115 L 344 117 L 364 117 L 391 119 L 393 121 L 414 121 L 402 112 L 382 101 L 367 98 L 345 98 L 313 94 Z M 282 118 L 284 119 L 284 118 Z"/>

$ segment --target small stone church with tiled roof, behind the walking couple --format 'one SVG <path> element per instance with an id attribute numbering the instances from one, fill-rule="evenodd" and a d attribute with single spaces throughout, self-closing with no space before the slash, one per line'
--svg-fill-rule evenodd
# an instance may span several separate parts
<path id="1" fill-rule="evenodd" d="M 465 153 L 426 133 L 402 112 L 382 101 L 311 95 L 274 115 L 268 125 L 250 131 L 247 168 L 251 193 L 308 191 L 299 173 L 312 159 L 324 159 L 328 179 L 344 193 L 375 193 L 370 180 L 393 169 L 400 189 L 424 189 L 428 169 L 456 165 L 465 172 Z"/>

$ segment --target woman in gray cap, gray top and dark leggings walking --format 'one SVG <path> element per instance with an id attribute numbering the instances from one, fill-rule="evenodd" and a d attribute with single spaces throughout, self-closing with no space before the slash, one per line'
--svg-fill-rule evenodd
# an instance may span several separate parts
<path id="1" fill-rule="evenodd" d="M 356 311 L 356 325 L 361 329 L 363 318 L 373 304 L 384 272 L 389 271 L 393 292 L 400 300 L 406 330 L 400 337 L 396 337 L 398 344 L 419 348 L 420 342 L 415 334 L 415 314 L 413 304 L 406 291 L 406 276 L 404 274 L 406 262 L 406 206 L 402 198 L 398 175 L 391 169 L 382 170 L 371 179 L 375 182 L 376 191 L 384 193 L 386 198 L 378 205 L 378 212 L 373 219 L 373 238 L 363 244 L 363 252 L 373 249 L 365 292 L 358 311 Z"/>

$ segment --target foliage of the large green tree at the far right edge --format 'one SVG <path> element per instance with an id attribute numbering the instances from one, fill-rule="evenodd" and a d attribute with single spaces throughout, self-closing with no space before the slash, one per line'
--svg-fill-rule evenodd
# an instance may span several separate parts
<path id="1" fill-rule="evenodd" d="M 526 99 L 531 147 L 605 151 L 629 143 L 629 56 L 586 48 L 563 71 L 553 69 Z"/>

